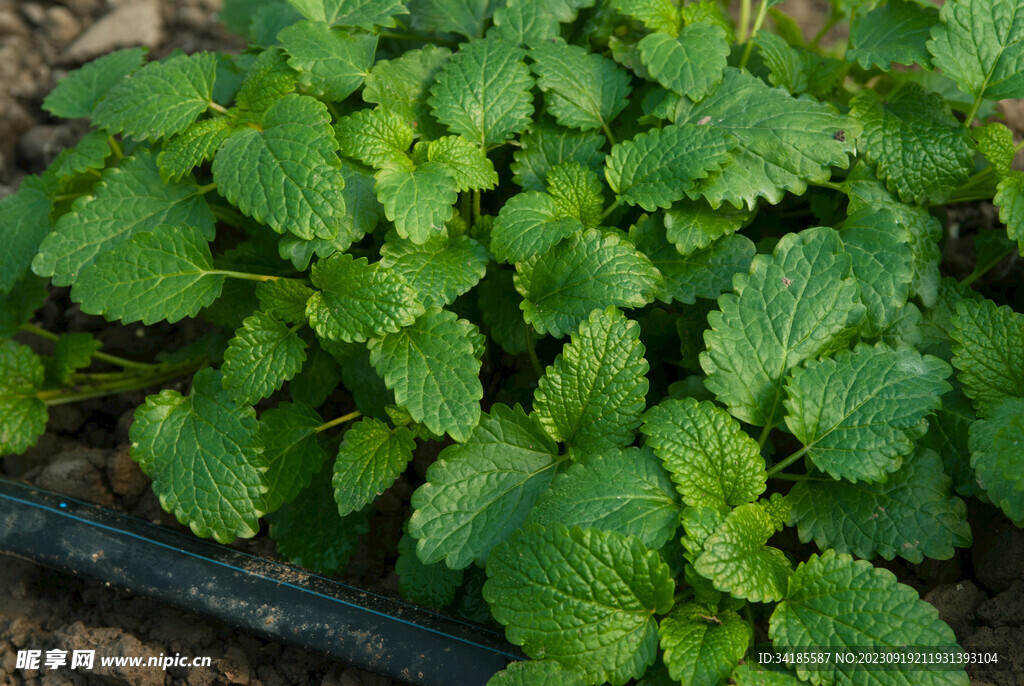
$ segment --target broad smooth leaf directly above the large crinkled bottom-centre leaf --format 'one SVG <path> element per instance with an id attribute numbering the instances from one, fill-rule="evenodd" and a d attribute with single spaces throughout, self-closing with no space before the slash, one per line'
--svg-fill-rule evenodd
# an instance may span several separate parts
<path id="1" fill-rule="evenodd" d="M 675 533 L 679 512 L 679 497 L 654 454 L 628 447 L 590 455 L 556 476 L 526 524 L 618 531 L 657 550 Z"/>

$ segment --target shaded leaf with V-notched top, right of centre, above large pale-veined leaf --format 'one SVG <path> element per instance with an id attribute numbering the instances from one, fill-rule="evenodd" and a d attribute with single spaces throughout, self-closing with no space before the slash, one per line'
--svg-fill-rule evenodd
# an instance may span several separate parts
<path id="1" fill-rule="evenodd" d="M 642 217 L 632 226 L 630 241 L 665 276 L 665 288 L 657 298 L 666 303 L 693 304 L 697 298 L 719 297 L 731 288 L 734 274 L 750 269 L 757 252 L 746 237 L 726 235 L 683 257 L 666 240 L 665 228 L 654 217 Z"/>

